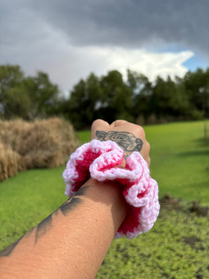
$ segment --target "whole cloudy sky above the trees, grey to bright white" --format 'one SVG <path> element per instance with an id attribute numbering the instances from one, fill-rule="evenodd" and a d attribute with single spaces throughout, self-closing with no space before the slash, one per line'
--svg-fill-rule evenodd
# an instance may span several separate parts
<path id="1" fill-rule="evenodd" d="M 69 90 L 90 72 L 209 67 L 208 0 L 0 0 L 0 64 Z"/>

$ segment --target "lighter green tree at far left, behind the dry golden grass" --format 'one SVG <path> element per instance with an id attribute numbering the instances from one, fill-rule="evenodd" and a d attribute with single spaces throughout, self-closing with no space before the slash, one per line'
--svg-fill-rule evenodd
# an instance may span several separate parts
<path id="1" fill-rule="evenodd" d="M 59 88 L 44 72 L 25 77 L 18 65 L 0 66 L 0 110 L 4 118 L 34 119 L 56 111 Z"/>

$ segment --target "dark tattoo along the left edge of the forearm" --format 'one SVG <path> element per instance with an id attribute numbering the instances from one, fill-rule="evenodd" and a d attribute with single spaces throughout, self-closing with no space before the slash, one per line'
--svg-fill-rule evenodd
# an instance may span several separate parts
<path id="1" fill-rule="evenodd" d="M 88 188 L 89 188 L 89 185 L 86 185 L 85 187 L 79 189 L 63 205 L 61 205 L 57 210 L 55 210 L 46 219 L 44 219 L 41 223 L 39 223 L 35 228 L 32 229 L 32 230 L 36 230 L 36 233 L 35 233 L 35 244 L 38 241 L 38 239 L 42 235 L 46 234 L 47 231 L 52 227 L 52 217 L 56 216 L 57 214 L 59 214 L 59 212 L 61 212 L 62 215 L 66 216 L 70 211 L 72 211 L 74 208 L 76 208 L 81 203 L 81 201 L 82 201 L 79 198 L 79 196 L 83 196 Z M 32 232 L 32 230 L 30 232 Z M 8 246 L 2 252 L 0 252 L 0 257 L 9 256 L 12 253 L 12 251 L 14 250 L 14 248 L 21 241 L 21 239 L 23 237 L 29 236 L 29 233 L 27 233 L 26 235 L 22 236 L 20 239 L 16 240 L 14 243 L 12 243 L 10 246 Z"/>

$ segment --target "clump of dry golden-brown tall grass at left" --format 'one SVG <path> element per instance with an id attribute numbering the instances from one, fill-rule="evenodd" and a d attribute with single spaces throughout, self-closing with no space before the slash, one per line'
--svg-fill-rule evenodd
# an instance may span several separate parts
<path id="1" fill-rule="evenodd" d="M 0 180 L 21 170 L 58 167 L 77 146 L 72 125 L 59 118 L 0 120 Z"/>

